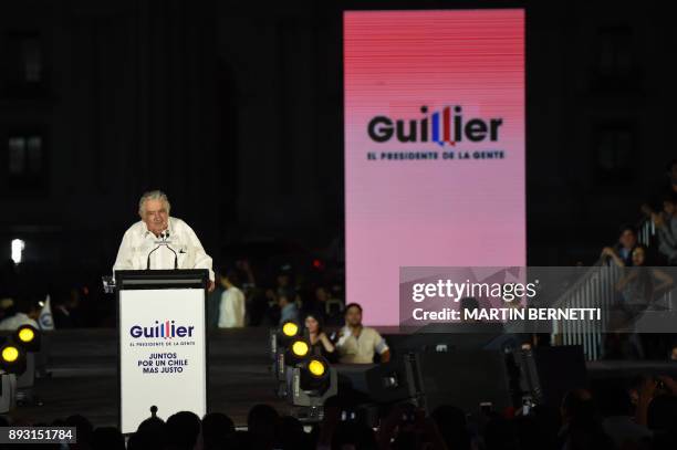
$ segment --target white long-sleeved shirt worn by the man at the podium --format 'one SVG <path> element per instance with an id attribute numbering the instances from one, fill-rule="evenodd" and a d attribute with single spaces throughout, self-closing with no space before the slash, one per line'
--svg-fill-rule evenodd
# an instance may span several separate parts
<path id="1" fill-rule="evenodd" d="M 146 222 L 134 223 L 123 237 L 113 272 L 117 270 L 146 270 L 148 269 L 148 254 L 156 249 L 163 239 L 166 245 L 150 254 L 150 269 L 174 269 L 174 261 L 178 259 L 178 269 L 207 269 L 209 280 L 213 281 L 211 257 L 209 257 L 195 231 L 181 219 L 170 217 L 165 238 L 157 238 L 146 227 Z M 169 249 L 173 249 L 174 252 Z"/>

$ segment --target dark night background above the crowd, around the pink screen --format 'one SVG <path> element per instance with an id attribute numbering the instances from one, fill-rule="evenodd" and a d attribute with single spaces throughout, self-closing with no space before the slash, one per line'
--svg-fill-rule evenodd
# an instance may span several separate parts
<path id="1" fill-rule="evenodd" d="M 591 264 L 667 179 L 676 36 L 589 3 L 3 1 L 0 261 L 20 238 L 31 287 L 96 283 L 159 188 L 217 265 L 340 265 L 342 11 L 524 7 L 529 264 Z"/>

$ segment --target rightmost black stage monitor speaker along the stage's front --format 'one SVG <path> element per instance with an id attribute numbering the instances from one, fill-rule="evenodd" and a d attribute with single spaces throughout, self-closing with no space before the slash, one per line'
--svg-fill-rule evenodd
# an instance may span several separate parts
<path id="1" fill-rule="evenodd" d="M 560 407 L 564 395 L 586 388 L 585 356 L 580 345 L 520 350 L 521 388 L 537 404 Z"/>

